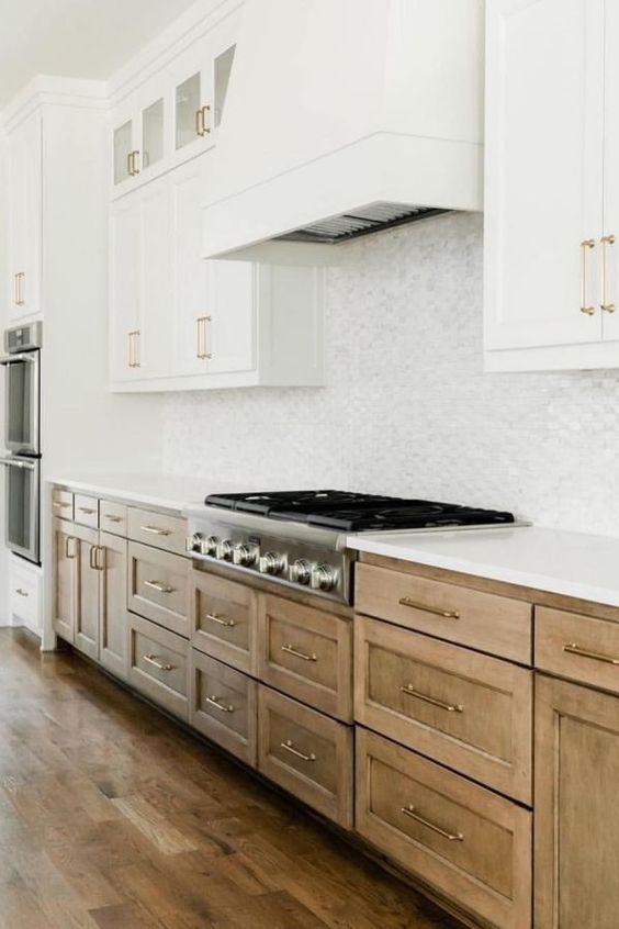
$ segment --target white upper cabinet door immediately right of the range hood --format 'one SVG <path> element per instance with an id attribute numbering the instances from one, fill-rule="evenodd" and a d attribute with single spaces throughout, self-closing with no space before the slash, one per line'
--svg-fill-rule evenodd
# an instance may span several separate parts
<path id="1" fill-rule="evenodd" d="M 604 0 L 489 0 L 486 48 L 485 348 L 599 342 Z"/>

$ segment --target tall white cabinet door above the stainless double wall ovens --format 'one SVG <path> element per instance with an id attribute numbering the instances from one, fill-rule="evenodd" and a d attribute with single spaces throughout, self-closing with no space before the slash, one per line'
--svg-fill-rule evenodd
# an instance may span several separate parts
<path id="1" fill-rule="evenodd" d="M 41 313 L 42 123 L 29 116 L 7 138 L 11 320 Z"/>

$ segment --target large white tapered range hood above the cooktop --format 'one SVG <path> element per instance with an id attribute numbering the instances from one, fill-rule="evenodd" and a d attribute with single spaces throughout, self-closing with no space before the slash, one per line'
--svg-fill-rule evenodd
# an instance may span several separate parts
<path id="1" fill-rule="evenodd" d="M 245 0 L 204 257 L 314 260 L 481 210 L 483 13 L 483 0 Z"/>

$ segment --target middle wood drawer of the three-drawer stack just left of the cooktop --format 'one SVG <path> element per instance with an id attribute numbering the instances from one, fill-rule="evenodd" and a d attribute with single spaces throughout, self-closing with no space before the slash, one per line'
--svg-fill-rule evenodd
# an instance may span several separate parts
<path id="1" fill-rule="evenodd" d="M 189 638 L 187 558 L 130 542 L 128 559 L 128 608 Z"/>

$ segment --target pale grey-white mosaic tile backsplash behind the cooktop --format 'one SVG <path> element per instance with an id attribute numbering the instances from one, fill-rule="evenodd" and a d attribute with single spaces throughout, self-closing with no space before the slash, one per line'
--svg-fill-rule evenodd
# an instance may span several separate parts
<path id="1" fill-rule="evenodd" d="M 165 469 L 619 534 L 619 371 L 483 373 L 482 228 L 451 214 L 344 246 L 326 385 L 168 395 Z"/>

